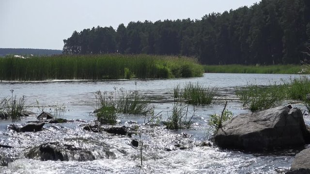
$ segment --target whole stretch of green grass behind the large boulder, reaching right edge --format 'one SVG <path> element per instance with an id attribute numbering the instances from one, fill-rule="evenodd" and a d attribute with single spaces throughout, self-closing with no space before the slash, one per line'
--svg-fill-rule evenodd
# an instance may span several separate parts
<path id="1" fill-rule="evenodd" d="M 282 85 L 237 87 L 236 96 L 243 103 L 243 106 L 248 107 L 251 111 L 274 107 L 283 100 L 300 101 L 310 111 L 310 78 L 303 75 L 299 78 L 283 81 Z"/>

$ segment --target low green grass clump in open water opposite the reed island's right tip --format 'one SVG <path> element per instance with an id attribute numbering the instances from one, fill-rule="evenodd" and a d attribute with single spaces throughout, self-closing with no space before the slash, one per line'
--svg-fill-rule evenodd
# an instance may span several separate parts
<path id="1" fill-rule="evenodd" d="M 218 88 L 205 87 L 198 82 L 193 84 L 186 83 L 183 89 L 179 85 L 173 89 L 174 99 L 184 99 L 188 104 L 211 104 L 215 96 L 218 94 Z"/>

